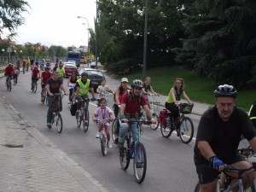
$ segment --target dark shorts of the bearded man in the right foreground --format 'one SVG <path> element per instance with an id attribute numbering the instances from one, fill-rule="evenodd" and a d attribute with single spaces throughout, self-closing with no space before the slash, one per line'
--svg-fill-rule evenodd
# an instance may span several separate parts
<path id="1" fill-rule="evenodd" d="M 243 160 L 245 160 L 244 157 L 242 157 L 240 154 L 236 154 L 232 158 L 232 160 L 230 160 L 230 162 L 228 163 L 224 162 L 224 163 L 231 165 Z M 210 167 L 209 164 L 199 164 L 199 165 L 195 165 L 195 167 L 196 167 L 196 172 L 198 174 L 199 183 L 201 184 L 211 183 L 212 181 L 217 179 L 218 175 L 220 174 L 220 172 Z"/>

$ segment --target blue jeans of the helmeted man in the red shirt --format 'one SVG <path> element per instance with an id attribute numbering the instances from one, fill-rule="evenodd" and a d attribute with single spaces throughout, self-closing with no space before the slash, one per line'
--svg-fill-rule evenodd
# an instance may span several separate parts
<path id="1" fill-rule="evenodd" d="M 129 119 L 129 120 L 137 120 L 137 119 Z M 119 119 L 120 129 L 119 129 L 119 143 L 125 143 L 125 134 L 129 129 L 129 125 L 126 123 L 121 122 Z M 138 130 L 137 130 L 137 123 L 131 124 L 131 135 L 132 139 L 135 142 L 138 138 Z"/>

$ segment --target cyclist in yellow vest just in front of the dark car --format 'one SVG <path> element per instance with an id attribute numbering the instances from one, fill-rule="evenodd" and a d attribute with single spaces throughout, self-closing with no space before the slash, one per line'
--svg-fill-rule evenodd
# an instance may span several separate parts
<path id="1" fill-rule="evenodd" d="M 90 101 L 94 102 L 96 101 L 94 89 L 92 87 L 92 84 L 90 82 L 90 79 L 88 79 L 88 74 L 87 73 L 82 73 L 81 74 L 81 79 L 78 79 L 76 82 L 76 99 L 78 100 L 77 102 L 77 112 L 76 112 L 76 117 L 79 115 L 79 109 L 81 108 L 82 105 L 82 98 L 88 98 L 89 97 L 89 91 L 92 96 Z M 86 100 L 86 108 L 85 110 L 88 109 L 88 104 L 89 100 Z M 85 113 L 86 115 L 86 113 Z M 88 117 L 85 117 L 87 119 Z"/>

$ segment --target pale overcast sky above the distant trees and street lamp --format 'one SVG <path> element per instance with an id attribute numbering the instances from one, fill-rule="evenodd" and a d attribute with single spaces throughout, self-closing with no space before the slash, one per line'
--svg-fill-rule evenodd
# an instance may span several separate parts
<path id="1" fill-rule="evenodd" d="M 66 46 L 86 45 L 88 41 L 87 21 L 94 29 L 96 0 L 26 0 L 31 6 L 24 14 L 26 22 L 17 30 L 18 44 L 27 42 Z M 86 23 L 86 25 L 83 25 Z M 14 40 L 15 40 L 14 39 Z"/>

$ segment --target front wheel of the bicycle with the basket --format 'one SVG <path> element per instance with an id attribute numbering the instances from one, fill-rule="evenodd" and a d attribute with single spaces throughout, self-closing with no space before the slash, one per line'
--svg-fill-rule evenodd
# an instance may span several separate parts
<path id="1" fill-rule="evenodd" d="M 190 118 L 184 117 L 179 122 L 180 140 L 183 143 L 191 142 L 194 136 L 194 125 Z"/>

